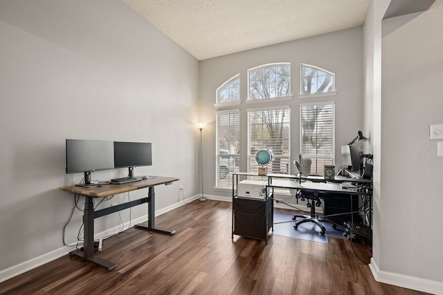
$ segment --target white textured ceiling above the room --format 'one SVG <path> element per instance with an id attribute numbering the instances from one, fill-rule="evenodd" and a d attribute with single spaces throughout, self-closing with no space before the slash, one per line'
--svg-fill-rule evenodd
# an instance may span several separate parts
<path id="1" fill-rule="evenodd" d="M 362 26 L 370 0 L 122 0 L 199 60 Z"/>

